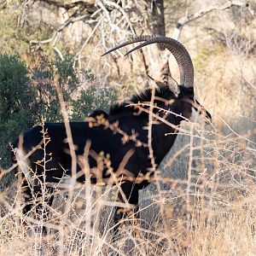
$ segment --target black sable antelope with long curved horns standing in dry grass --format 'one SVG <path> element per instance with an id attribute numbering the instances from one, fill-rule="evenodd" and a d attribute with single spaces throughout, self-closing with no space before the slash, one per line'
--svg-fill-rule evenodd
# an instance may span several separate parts
<path id="1" fill-rule="evenodd" d="M 113 105 L 109 113 L 96 110 L 86 122 L 69 124 L 78 159 L 84 154 L 86 143 L 90 142 L 88 163 L 90 170 L 94 170 L 91 182 L 96 183 L 99 179 L 102 182 L 111 176 L 108 172 L 109 166 L 103 164 L 101 170 L 97 166 L 95 155 L 103 152 L 108 156 L 111 170 L 119 172 L 118 175 L 124 177 L 121 189 L 128 202 L 135 207 L 135 211 L 137 211 L 138 190 L 148 185 L 147 179 L 136 182 L 136 178 L 145 176 L 148 172 L 154 175 L 155 168 L 172 148 L 181 121 L 190 119 L 192 108 L 203 113 L 207 119 L 211 119 L 211 115 L 195 100 L 194 67 L 189 52 L 183 44 L 172 38 L 141 36 L 110 49 L 104 55 L 137 42 L 144 43 L 131 49 L 127 54 L 149 44 L 160 44 L 174 55 L 180 71 L 178 92 L 174 92 L 170 84 L 157 82 L 159 86 L 155 90 L 148 88 L 140 95 L 131 96 L 129 101 Z M 149 124 L 150 117 L 151 124 Z M 147 129 L 149 125 L 150 128 Z M 20 169 L 25 177 L 23 187 L 26 187 L 27 204 L 24 207 L 24 213 L 31 210 L 32 192 L 39 197 L 42 195 L 40 183 L 59 183 L 64 173 L 72 175 L 72 158 L 69 154 L 65 125 L 46 123 L 44 130 L 49 137 L 45 151 L 42 147 L 33 149 L 42 142 L 41 125 L 26 131 L 20 146 L 19 139 L 12 143 L 16 160 L 20 163 Z M 166 134 L 171 135 L 166 136 Z M 34 151 L 26 158 L 25 155 L 31 150 Z M 128 153 L 129 158 L 120 170 L 120 163 Z M 151 158 L 148 155 L 151 155 Z M 79 164 L 76 171 L 81 173 Z M 80 183 L 84 180 L 84 175 L 77 177 Z M 52 199 L 53 197 L 50 196 L 47 203 L 51 204 Z M 119 194 L 119 201 L 124 201 L 121 194 Z M 116 223 L 125 215 L 125 211 L 120 210 L 121 208 L 117 207 L 114 215 Z"/>

